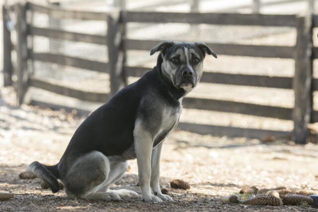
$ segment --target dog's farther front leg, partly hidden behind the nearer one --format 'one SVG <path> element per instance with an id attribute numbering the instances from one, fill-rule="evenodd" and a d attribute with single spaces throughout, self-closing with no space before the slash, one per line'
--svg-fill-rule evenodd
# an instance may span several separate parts
<path id="1" fill-rule="evenodd" d="M 173 201 L 168 195 L 162 194 L 159 184 L 159 170 L 160 170 L 160 154 L 161 154 L 162 143 L 160 143 L 156 148 L 153 149 L 151 155 L 151 180 L 150 186 L 153 189 L 154 194 L 163 201 Z"/>

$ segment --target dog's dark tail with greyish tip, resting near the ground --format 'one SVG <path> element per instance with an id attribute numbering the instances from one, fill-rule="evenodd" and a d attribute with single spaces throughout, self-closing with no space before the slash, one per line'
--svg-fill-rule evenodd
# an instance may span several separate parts
<path id="1" fill-rule="evenodd" d="M 26 171 L 33 172 L 38 178 L 43 180 L 53 193 L 60 191 L 60 184 L 57 180 L 60 178 L 60 173 L 57 165 L 46 166 L 38 161 L 34 161 L 26 167 Z"/>

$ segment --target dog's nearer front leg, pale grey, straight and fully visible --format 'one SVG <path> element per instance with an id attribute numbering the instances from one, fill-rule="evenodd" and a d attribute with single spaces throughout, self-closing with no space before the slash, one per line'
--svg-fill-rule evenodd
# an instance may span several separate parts
<path id="1" fill-rule="evenodd" d="M 138 165 L 138 185 L 141 188 L 144 202 L 160 203 L 162 200 L 151 193 L 151 155 L 153 149 L 153 139 L 141 123 L 136 123 L 134 130 L 135 151 Z"/>

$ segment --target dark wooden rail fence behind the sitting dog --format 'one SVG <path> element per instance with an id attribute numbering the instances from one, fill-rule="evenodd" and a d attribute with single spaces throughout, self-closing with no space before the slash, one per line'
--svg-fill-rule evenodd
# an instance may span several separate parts
<path id="1" fill-rule="evenodd" d="M 7 8 L 3 7 L 3 16 Z M 48 14 L 52 18 L 81 20 L 103 20 L 107 22 L 107 36 L 88 35 L 52 28 L 39 28 L 26 22 L 26 11 Z M 138 23 L 189 23 L 218 25 L 252 25 L 252 26 L 287 26 L 297 29 L 296 46 L 264 46 L 207 43 L 220 55 L 295 59 L 294 77 L 269 77 L 261 75 L 245 75 L 218 72 L 204 72 L 202 82 L 232 85 L 258 86 L 268 88 L 294 89 L 295 107 L 285 108 L 250 103 L 187 97 L 183 100 L 184 108 L 212 110 L 247 115 L 270 117 L 294 121 L 293 132 L 260 130 L 250 128 L 213 126 L 192 123 L 179 123 L 178 127 L 199 134 L 212 134 L 230 137 L 249 137 L 263 139 L 267 136 L 276 138 L 293 138 L 298 143 L 305 143 L 308 136 L 307 124 L 318 122 L 318 111 L 313 111 L 312 91 L 318 90 L 318 79 L 312 79 L 312 62 L 318 58 L 318 48 L 312 48 L 313 26 L 318 26 L 318 16 L 303 17 L 296 15 L 262 15 L 262 14 L 229 14 L 229 13 L 173 13 L 173 12 L 135 12 L 113 11 L 84 12 L 61 9 L 54 6 L 40 6 L 32 3 L 15 4 L 17 14 L 17 45 L 10 45 L 10 32 L 4 30 L 4 81 L 10 85 L 12 74 L 11 50 L 17 52 L 17 67 L 14 70 L 18 103 L 23 102 L 24 94 L 29 86 L 45 89 L 58 94 L 78 98 L 85 101 L 106 102 L 109 97 L 127 84 L 128 76 L 142 76 L 147 68 L 131 67 L 125 63 L 128 50 L 150 50 L 159 40 L 132 40 L 125 36 L 125 25 L 128 22 Z M 313 17 L 313 18 L 312 18 Z M 6 19 L 3 18 L 5 21 Z M 5 28 L 5 24 L 3 24 Z M 70 57 L 53 53 L 34 53 L 27 49 L 27 36 L 44 36 L 61 40 L 86 42 L 108 47 L 108 63 Z M 313 54 L 312 54 L 313 53 Z M 110 93 L 86 92 L 83 90 L 57 85 L 35 78 L 26 69 L 27 60 L 55 63 L 64 66 L 78 67 L 91 71 L 110 74 Z M 313 83 L 311 83 L 313 81 Z"/>

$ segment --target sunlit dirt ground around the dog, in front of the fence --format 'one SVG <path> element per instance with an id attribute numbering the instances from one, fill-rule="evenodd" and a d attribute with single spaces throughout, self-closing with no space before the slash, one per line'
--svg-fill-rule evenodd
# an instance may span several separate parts
<path id="1" fill-rule="evenodd" d="M 85 201 L 67 198 L 62 190 L 52 194 L 38 179 L 21 180 L 18 174 L 34 160 L 55 164 L 73 132 L 82 122 L 64 111 L 14 106 L 12 88 L 0 90 L 0 192 L 14 194 L 0 202 L 0 211 L 317 211 L 315 207 L 260 207 L 225 204 L 220 196 L 238 193 L 242 187 L 277 186 L 318 190 L 318 145 L 290 141 L 201 136 L 175 131 L 162 150 L 160 182 L 173 197 L 172 203 Z M 140 194 L 136 160 L 114 189 Z M 171 189 L 172 179 L 182 179 L 190 190 Z M 318 193 L 318 192 L 317 192 Z"/>

